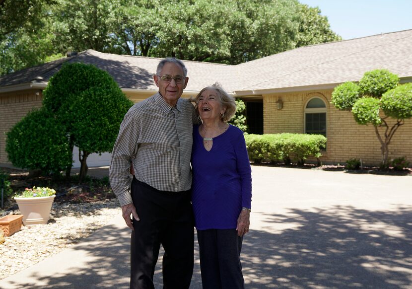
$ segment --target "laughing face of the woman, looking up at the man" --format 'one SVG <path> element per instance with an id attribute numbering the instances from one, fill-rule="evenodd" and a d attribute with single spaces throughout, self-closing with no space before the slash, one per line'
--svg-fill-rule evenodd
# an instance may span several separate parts
<path id="1" fill-rule="evenodd" d="M 202 120 L 220 119 L 220 114 L 224 112 L 221 107 L 216 90 L 206 89 L 198 98 L 198 112 Z"/>

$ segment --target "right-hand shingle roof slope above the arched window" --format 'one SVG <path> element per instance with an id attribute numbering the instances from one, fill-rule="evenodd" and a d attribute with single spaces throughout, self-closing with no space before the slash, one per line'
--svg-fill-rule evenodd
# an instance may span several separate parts
<path id="1" fill-rule="evenodd" d="M 412 76 L 412 30 L 305 46 L 238 65 L 259 72 L 237 90 L 275 89 L 357 81 L 364 72 L 388 69 Z"/>

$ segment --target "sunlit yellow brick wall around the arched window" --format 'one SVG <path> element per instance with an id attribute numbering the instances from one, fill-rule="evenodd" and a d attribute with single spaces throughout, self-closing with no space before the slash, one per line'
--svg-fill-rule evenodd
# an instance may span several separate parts
<path id="1" fill-rule="evenodd" d="M 321 157 L 325 163 L 343 163 L 349 158 L 361 158 L 365 165 L 378 165 L 381 161 L 380 143 L 372 125 L 361 126 L 353 119 L 352 113 L 340 111 L 331 103 L 332 90 L 276 93 L 263 95 L 264 133 L 303 133 L 304 107 L 307 101 L 318 96 L 327 108 L 327 150 Z M 276 109 L 276 101 L 281 98 L 283 108 Z M 389 119 L 389 123 L 395 121 Z M 383 135 L 383 129 L 380 129 Z M 389 159 L 406 156 L 412 162 L 412 120 L 398 128 L 389 145 Z"/>

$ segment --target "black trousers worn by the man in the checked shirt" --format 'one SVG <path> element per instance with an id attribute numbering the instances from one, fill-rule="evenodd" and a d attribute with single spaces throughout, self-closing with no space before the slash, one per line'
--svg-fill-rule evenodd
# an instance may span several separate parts
<path id="1" fill-rule="evenodd" d="M 133 219 L 131 289 L 154 289 L 153 275 L 163 245 L 163 288 L 188 289 L 193 274 L 194 218 L 190 191 L 163 192 L 132 181 L 140 221 Z"/>

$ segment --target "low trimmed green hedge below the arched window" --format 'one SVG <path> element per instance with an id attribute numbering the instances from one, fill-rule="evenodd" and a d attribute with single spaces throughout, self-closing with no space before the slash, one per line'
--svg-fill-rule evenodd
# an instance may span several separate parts
<path id="1" fill-rule="evenodd" d="M 304 164 L 309 156 L 320 157 L 321 149 L 326 147 L 326 138 L 322 135 L 246 135 L 245 140 L 249 159 L 256 163 L 290 163 L 291 160 L 296 160 L 298 164 Z"/>

